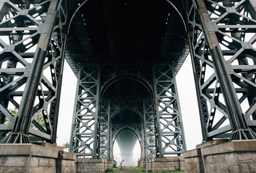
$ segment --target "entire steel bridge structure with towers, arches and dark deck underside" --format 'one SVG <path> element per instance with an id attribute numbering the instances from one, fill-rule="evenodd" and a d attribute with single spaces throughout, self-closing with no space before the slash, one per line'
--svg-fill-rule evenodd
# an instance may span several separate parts
<path id="1" fill-rule="evenodd" d="M 254 0 L 0 0 L 1 143 L 56 143 L 66 59 L 78 79 L 70 152 L 112 160 L 115 140 L 130 152 L 137 138 L 141 158 L 180 155 L 175 75 L 189 53 L 203 140 L 255 139 L 255 7 Z"/>

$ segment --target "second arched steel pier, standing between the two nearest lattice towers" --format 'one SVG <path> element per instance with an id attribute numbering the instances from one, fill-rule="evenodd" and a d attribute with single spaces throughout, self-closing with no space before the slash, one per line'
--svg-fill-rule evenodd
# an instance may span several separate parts
<path id="1" fill-rule="evenodd" d="M 120 79 L 143 83 L 148 95 L 104 95 L 106 88 Z M 86 65 L 79 70 L 76 96 L 70 151 L 79 156 L 85 150 L 85 155 L 93 158 L 113 159 L 113 142 L 121 129 L 128 127 L 123 128 L 124 123 L 111 119 L 123 109 L 133 110 L 143 120 L 143 123 L 134 123 L 136 127 L 129 125 L 141 142 L 142 158 L 144 151 L 153 158 L 181 154 L 186 149 L 172 66 Z M 157 111 L 155 99 L 159 105 Z M 164 144 L 164 148 L 159 143 Z"/>

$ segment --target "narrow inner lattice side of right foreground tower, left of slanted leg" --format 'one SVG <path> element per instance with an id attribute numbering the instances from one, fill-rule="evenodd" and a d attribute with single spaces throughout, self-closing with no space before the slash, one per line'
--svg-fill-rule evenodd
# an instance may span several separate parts
<path id="1" fill-rule="evenodd" d="M 218 86 L 215 72 L 211 70 L 213 69 L 213 62 L 209 57 L 208 44 L 204 38 L 202 26 L 197 14 L 197 5 L 194 1 L 188 2 L 186 15 L 189 31 L 189 48 L 195 80 L 195 89 L 198 97 L 203 142 L 212 140 L 215 136 L 229 137 L 230 134 L 225 134 L 226 131 L 230 130 L 229 126 L 218 129 L 220 125 L 225 123 L 225 120 L 228 118 L 228 114 L 225 105 L 219 101 L 221 89 Z M 207 77 L 206 74 L 211 75 L 210 77 Z M 215 81 L 216 83 L 214 83 Z M 212 89 L 210 86 L 213 84 L 215 85 Z M 210 94 L 213 94 L 213 96 Z M 210 109 L 208 105 L 210 105 Z M 215 117 L 217 111 L 222 114 L 222 117 L 219 119 Z M 213 120 L 217 121 L 216 125 L 213 125 Z M 213 133 L 213 135 L 210 136 L 209 133 Z"/>

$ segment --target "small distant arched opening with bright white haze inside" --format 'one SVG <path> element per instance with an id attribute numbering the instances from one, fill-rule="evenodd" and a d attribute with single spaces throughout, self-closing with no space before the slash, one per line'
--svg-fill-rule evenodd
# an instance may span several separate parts
<path id="1" fill-rule="evenodd" d="M 144 157 L 141 147 L 143 139 L 143 119 L 135 110 L 122 109 L 116 112 L 110 122 L 113 134 L 113 158 L 119 165 L 136 166 L 138 159 Z M 136 143 L 137 147 L 135 149 Z"/>

